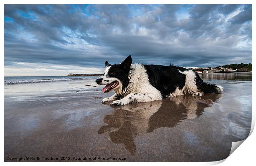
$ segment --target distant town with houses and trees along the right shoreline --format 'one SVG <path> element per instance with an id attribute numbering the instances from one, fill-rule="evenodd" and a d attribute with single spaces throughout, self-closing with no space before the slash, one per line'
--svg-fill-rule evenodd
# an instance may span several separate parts
<path id="1" fill-rule="evenodd" d="M 230 73 L 230 72 L 251 72 L 251 63 L 231 64 L 217 67 L 191 68 L 200 73 Z"/>

